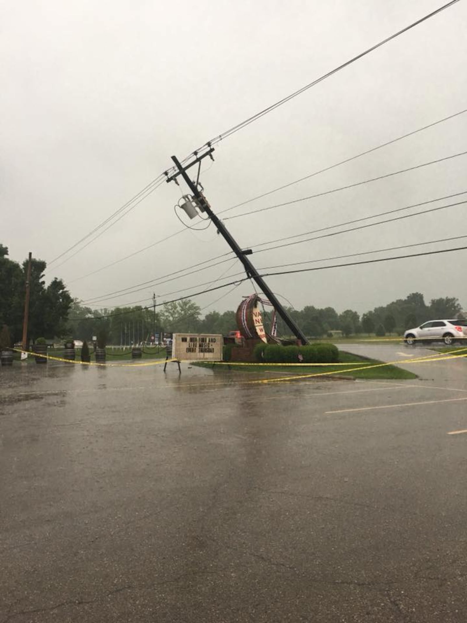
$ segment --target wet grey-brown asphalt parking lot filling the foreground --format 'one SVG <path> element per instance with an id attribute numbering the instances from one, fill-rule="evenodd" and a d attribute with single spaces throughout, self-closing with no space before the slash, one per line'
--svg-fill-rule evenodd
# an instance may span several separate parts
<path id="1" fill-rule="evenodd" d="M 0 623 L 465 623 L 467 359 L 404 366 L 1 369 Z"/>

